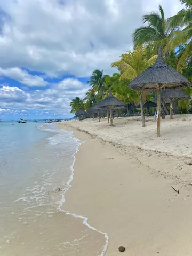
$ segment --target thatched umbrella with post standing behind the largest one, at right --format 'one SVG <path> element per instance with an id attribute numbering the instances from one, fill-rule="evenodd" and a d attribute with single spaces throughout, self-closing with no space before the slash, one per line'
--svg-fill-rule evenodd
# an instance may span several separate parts
<path id="1" fill-rule="evenodd" d="M 157 98 L 157 97 L 156 97 Z M 161 99 L 167 99 L 170 103 L 170 119 L 173 119 L 172 103 L 174 100 L 188 100 L 190 96 L 181 90 L 163 90 L 161 93 Z"/>

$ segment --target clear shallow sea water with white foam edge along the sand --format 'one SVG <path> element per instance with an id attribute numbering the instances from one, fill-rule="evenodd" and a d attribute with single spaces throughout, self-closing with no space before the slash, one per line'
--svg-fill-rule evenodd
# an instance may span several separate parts
<path id="1" fill-rule="evenodd" d="M 55 124 L 12 123 L 0 123 L 0 255 L 104 255 L 107 235 L 61 211 L 81 142 Z"/>

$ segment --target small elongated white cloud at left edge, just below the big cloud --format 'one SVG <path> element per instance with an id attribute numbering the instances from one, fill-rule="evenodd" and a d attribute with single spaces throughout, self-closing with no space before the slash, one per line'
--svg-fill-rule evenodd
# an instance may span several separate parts
<path id="1" fill-rule="evenodd" d="M 0 75 L 17 80 L 21 84 L 25 84 L 28 87 L 44 87 L 48 84 L 42 77 L 37 75 L 32 76 L 28 74 L 27 71 L 20 68 L 0 68 Z"/>

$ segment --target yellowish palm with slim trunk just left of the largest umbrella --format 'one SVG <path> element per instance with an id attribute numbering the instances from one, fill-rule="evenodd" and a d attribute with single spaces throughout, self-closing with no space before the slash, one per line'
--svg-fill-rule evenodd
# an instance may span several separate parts
<path id="1" fill-rule="evenodd" d="M 122 54 L 121 59 L 113 62 L 111 66 L 117 67 L 121 71 L 121 79 L 132 80 L 146 70 L 147 67 L 153 65 L 157 58 L 157 55 L 154 55 L 150 59 L 147 59 L 146 51 L 146 47 L 137 46 L 133 52 L 127 51 L 126 54 Z M 139 100 L 141 106 L 142 127 L 145 127 L 141 91 L 139 91 Z"/>

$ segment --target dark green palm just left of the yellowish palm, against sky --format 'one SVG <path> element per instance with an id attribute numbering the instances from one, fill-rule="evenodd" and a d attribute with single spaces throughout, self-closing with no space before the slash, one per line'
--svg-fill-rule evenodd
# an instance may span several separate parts
<path id="1" fill-rule="evenodd" d="M 103 75 L 103 70 L 95 69 L 91 75 L 90 81 L 87 84 L 92 86 L 94 92 L 98 92 L 98 98 L 101 96 L 103 98 L 104 94 L 104 83 L 105 76 Z"/>

